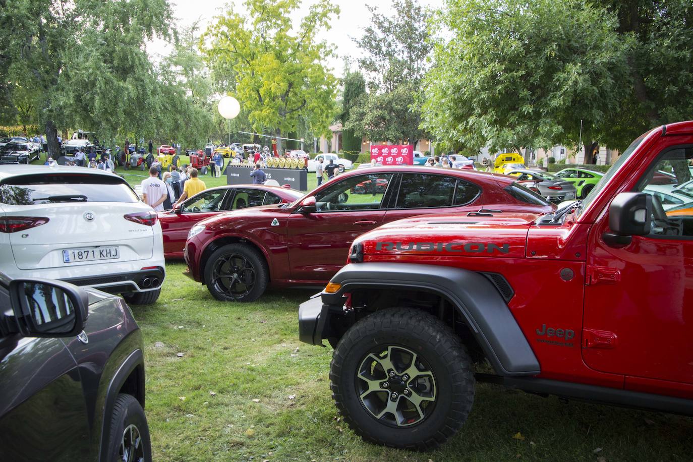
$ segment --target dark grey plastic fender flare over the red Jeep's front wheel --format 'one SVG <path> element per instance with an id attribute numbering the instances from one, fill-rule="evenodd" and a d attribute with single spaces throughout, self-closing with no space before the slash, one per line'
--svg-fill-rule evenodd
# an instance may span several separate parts
<path id="1" fill-rule="evenodd" d="M 322 302 L 328 306 L 342 307 L 343 294 L 358 288 L 419 289 L 438 294 L 462 314 L 496 373 L 511 376 L 541 372 L 505 299 L 482 274 L 416 263 L 350 263 L 331 282 L 342 287 L 335 294 L 322 293 Z"/>

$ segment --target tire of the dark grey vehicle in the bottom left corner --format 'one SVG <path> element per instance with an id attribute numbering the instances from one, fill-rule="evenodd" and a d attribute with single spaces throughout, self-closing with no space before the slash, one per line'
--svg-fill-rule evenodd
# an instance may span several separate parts
<path id="1" fill-rule="evenodd" d="M 121 393 L 116 398 L 111 414 L 111 434 L 108 438 L 108 461 L 122 461 L 123 457 L 120 454 L 121 444 L 123 442 L 123 432 L 125 429 L 134 425 L 139 434 L 139 445 L 143 450 L 143 460 L 146 462 L 152 461 L 152 443 L 149 436 L 149 425 L 147 425 L 147 417 L 144 415 L 144 409 L 139 404 L 134 396 Z M 140 447 L 138 445 L 138 447 Z M 137 459 L 136 459 L 137 460 Z"/>

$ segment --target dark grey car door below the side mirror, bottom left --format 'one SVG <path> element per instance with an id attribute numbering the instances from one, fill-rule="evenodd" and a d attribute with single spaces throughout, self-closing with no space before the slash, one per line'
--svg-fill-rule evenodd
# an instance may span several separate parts
<path id="1" fill-rule="evenodd" d="M 10 310 L 0 287 L 0 311 Z M 0 330 L 0 461 L 89 459 L 89 416 L 76 362 L 59 338 Z"/>

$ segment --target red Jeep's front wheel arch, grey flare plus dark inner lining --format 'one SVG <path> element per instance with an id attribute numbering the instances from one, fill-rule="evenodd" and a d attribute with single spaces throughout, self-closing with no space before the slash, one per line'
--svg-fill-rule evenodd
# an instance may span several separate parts
<path id="1" fill-rule="evenodd" d="M 478 346 L 489 359 L 491 366 L 499 375 L 536 375 L 540 365 L 525 335 L 507 306 L 499 288 L 483 274 L 467 269 L 421 265 L 414 263 L 351 263 L 340 270 L 331 280 L 342 285 L 336 294 L 322 294 L 322 302 L 327 307 L 342 307 L 344 294 L 351 294 L 354 312 L 364 302 L 383 302 L 383 296 L 393 296 L 385 306 L 371 308 L 391 308 L 401 300 L 407 301 L 410 308 L 426 308 L 432 314 L 446 319 L 446 306 L 452 307 L 453 330 L 469 346 Z M 412 294 L 427 294 L 424 303 Z M 366 300 L 360 299 L 365 296 Z M 437 301 L 436 306 L 430 303 Z M 418 305 L 418 306 L 417 306 Z M 365 309 L 368 311 L 368 307 Z M 372 311 L 372 310 L 371 310 Z M 324 312 L 324 310 L 323 310 Z M 468 335 L 460 330 L 455 316 L 468 327 Z M 332 317 L 337 324 L 343 323 L 340 316 Z M 342 318 L 342 319 L 340 319 Z M 349 326 L 346 326 L 347 328 Z M 325 326 L 323 337 L 335 335 L 333 326 Z M 327 333 L 327 335 L 324 335 Z M 337 330 L 339 335 L 339 330 Z M 332 340 L 331 340 L 332 341 Z M 475 342 L 475 343 L 474 343 Z"/>

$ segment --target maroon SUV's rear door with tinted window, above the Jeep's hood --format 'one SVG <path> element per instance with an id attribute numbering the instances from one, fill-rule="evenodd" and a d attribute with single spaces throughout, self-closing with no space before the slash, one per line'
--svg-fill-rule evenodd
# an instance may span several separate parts
<path id="1" fill-rule="evenodd" d="M 482 208 L 481 188 L 471 181 L 447 175 L 402 173 L 394 202 L 385 212 L 385 222 L 414 215 L 454 212 L 458 207 Z"/>

